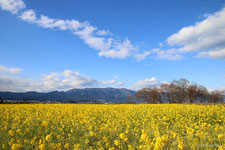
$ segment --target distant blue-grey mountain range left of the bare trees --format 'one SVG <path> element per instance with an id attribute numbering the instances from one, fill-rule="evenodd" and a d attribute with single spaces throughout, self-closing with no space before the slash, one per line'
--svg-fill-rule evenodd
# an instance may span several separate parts
<path id="1" fill-rule="evenodd" d="M 128 95 L 134 96 L 135 91 L 125 88 L 85 88 L 72 89 L 69 91 L 53 91 L 49 93 L 41 92 L 0 92 L 0 96 L 5 100 L 38 100 L 38 101 L 71 101 L 71 102 L 107 102 L 125 103 Z"/>

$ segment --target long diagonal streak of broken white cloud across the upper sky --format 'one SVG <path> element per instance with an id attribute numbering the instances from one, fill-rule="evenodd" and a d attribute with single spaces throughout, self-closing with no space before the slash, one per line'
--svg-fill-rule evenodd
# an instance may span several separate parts
<path id="1" fill-rule="evenodd" d="M 31 9 L 24 11 L 19 17 L 43 28 L 69 30 L 79 36 L 89 47 L 99 51 L 99 56 L 119 59 L 133 56 L 140 61 L 150 54 L 150 52 L 137 48 L 138 46 L 133 45 L 129 39 L 115 39 L 110 31 L 98 30 L 87 21 L 52 19 L 42 14 L 37 17 Z"/>

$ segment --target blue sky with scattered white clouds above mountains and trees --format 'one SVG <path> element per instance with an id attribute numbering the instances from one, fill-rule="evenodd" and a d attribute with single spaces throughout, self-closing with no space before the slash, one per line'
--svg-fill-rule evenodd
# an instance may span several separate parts
<path id="1" fill-rule="evenodd" d="M 0 0 L 0 91 L 225 89 L 224 0 Z"/>

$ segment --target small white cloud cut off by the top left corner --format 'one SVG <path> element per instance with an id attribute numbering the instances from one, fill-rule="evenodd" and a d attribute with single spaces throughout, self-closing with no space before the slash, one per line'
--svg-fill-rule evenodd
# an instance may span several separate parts
<path id="1" fill-rule="evenodd" d="M 18 11 L 26 8 L 26 5 L 22 0 L 0 0 L 0 8 L 12 14 L 17 14 Z"/>

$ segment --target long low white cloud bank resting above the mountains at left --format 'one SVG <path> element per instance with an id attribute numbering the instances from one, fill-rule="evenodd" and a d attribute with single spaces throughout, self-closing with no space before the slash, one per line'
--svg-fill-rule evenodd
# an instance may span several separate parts
<path id="1" fill-rule="evenodd" d="M 13 73 L 15 73 L 15 71 L 13 71 Z M 109 85 L 121 86 L 124 85 L 124 82 L 116 80 L 98 81 L 71 70 L 64 70 L 61 73 L 43 74 L 40 80 L 23 79 L 10 74 L 0 75 L 0 91 L 49 92 L 55 90 L 66 91 L 73 88 L 104 87 Z"/>

